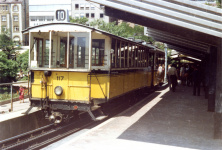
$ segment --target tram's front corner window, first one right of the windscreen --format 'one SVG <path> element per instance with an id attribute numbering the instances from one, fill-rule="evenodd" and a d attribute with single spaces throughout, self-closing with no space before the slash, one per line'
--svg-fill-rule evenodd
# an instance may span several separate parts
<path id="1" fill-rule="evenodd" d="M 103 66 L 104 65 L 104 39 L 93 39 L 92 40 L 92 66 Z"/>

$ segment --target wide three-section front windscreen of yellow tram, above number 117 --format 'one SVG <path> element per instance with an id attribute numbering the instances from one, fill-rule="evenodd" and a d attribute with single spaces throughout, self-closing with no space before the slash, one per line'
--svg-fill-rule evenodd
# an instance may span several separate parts
<path id="1" fill-rule="evenodd" d="M 89 68 L 88 32 L 34 32 L 32 37 L 31 68 Z"/>

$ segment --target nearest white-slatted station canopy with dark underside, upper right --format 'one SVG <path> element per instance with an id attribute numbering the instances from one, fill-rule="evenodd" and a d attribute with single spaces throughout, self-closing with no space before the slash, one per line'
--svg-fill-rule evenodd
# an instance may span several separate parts
<path id="1" fill-rule="evenodd" d="M 154 40 L 185 55 L 204 58 L 222 40 L 222 9 L 188 0 L 88 0 L 105 14 L 146 26 Z"/>

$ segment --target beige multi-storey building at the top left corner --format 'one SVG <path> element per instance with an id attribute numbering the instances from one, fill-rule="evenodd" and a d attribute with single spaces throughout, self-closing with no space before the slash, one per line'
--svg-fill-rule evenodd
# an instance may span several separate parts
<path id="1" fill-rule="evenodd" d="M 18 44 L 26 43 L 21 31 L 28 27 L 27 8 L 28 0 L 0 0 L 0 26 L 9 29 L 10 37 Z"/>

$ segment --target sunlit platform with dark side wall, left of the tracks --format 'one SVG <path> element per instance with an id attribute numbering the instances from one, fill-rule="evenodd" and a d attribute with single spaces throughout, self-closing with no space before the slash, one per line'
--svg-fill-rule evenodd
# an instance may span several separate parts
<path id="1" fill-rule="evenodd" d="M 29 108 L 29 99 L 24 103 L 13 102 L 13 111 L 9 112 L 11 103 L 0 105 L 0 141 L 28 132 L 49 124 L 38 108 L 33 108 L 28 115 L 23 114 Z"/>

